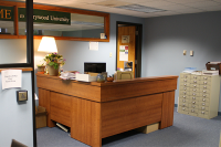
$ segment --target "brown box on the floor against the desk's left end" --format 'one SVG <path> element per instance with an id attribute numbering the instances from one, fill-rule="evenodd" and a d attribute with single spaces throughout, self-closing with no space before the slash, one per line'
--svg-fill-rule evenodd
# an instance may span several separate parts
<path id="1" fill-rule="evenodd" d="M 46 108 L 35 106 L 35 123 L 36 128 L 46 127 Z"/>

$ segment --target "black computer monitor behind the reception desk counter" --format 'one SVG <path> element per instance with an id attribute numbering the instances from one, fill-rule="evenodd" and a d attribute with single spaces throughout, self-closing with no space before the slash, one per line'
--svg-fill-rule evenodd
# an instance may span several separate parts
<path id="1" fill-rule="evenodd" d="M 93 72 L 93 73 L 106 72 L 106 63 L 84 62 L 84 72 Z"/>

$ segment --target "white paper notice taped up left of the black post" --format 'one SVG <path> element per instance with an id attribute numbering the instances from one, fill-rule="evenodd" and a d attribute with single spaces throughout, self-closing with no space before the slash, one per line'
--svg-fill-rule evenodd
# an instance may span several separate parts
<path id="1" fill-rule="evenodd" d="M 2 90 L 21 87 L 22 70 L 6 70 L 1 71 Z"/>

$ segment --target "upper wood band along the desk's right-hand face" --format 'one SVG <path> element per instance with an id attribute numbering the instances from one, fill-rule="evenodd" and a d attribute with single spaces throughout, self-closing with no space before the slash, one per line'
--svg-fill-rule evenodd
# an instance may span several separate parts
<path id="1" fill-rule="evenodd" d="M 122 88 L 124 87 L 124 90 Z M 177 80 L 147 81 L 136 83 L 125 83 L 102 87 L 102 102 L 128 98 L 134 96 L 155 94 L 177 88 Z"/>

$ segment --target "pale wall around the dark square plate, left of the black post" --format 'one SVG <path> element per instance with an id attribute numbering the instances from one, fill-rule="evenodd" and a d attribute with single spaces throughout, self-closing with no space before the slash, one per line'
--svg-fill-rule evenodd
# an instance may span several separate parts
<path id="1" fill-rule="evenodd" d="M 0 74 L 1 83 L 1 74 Z M 28 102 L 18 104 L 15 91 L 27 90 Z M 22 73 L 22 87 L 2 90 L 0 84 L 0 147 L 10 147 L 15 139 L 33 146 L 31 73 Z"/>

